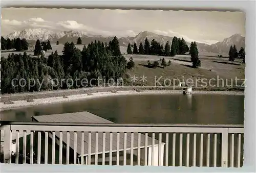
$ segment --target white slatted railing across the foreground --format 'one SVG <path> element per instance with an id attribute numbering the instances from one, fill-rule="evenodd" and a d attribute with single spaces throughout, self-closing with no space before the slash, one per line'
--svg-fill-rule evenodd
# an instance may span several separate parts
<path id="1" fill-rule="evenodd" d="M 1 127 L 1 145 L 5 163 L 241 167 L 243 133 L 239 125 L 12 122 Z"/>

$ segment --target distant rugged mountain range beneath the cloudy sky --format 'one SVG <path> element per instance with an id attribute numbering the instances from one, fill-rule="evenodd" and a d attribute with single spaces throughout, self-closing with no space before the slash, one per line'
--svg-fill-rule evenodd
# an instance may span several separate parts
<path id="1" fill-rule="evenodd" d="M 6 38 L 14 39 L 14 38 L 26 38 L 30 43 L 35 43 L 37 39 L 40 41 L 50 40 L 51 42 L 59 41 L 59 43 L 71 42 L 76 43 L 77 39 L 80 37 L 82 39 L 83 44 L 89 44 L 92 41 L 99 40 L 101 42 L 109 42 L 114 38 L 104 37 L 102 35 L 90 35 L 81 31 L 61 31 L 54 32 L 47 29 L 24 29 L 21 31 L 16 31 L 8 34 Z M 164 44 L 169 41 L 172 43 L 173 37 L 159 35 L 153 32 L 143 31 L 140 32 L 135 37 L 120 37 L 119 44 L 120 46 L 127 46 L 129 43 L 137 43 L 137 46 L 142 42 L 144 43 L 145 38 L 147 38 L 150 42 L 155 39 L 159 41 L 160 44 Z M 223 41 L 217 42 L 215 44 L 205 44 L 197 42 L 198 50 L 200 52 L 211 52 L 211 53 L 228 53 L 230 45 L 236 45 L 239 50 L 240 47 L 245 47 L 245 37 L 240 34 L 234 34 L 228 38 L 225 38 Z M 187 45 L 190 45 L 190 42 L 187 42 Z"/>

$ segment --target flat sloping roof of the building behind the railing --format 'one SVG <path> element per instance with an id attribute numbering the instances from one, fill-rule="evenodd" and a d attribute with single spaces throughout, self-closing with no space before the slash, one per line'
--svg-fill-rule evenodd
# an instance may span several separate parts
<path id="1" fill-rule="evenodd" d="M 33 119 L 38 122 L 81 122 L 81 123 L 114 123 L 110 120 L 104 119 L 90 112 L 74 112 L 65 114 L 54 114 L 54 115 L 41 115 L 33 116 Z M 91 154 L 95 154 L 95 132 L 92 133 L 91 140 Z M 59 132 L 55 132 L 55 135 L 59 138 Z M 67 132 L 62 132 L 63 142 L 67 143 Z M 98 132 L 98 154 L 102 153 L 103 146 L 103 132 Z M 88 155 L 88 139 L 89 133 L 84 132 L 84 155 Z M 152 138 L 147 137 L 147 146 L 152 145 Z M 155 145 L 158 145 L 158 140 L 155 139 Z M 138 148 L 138 133 L 134 133 L 134 149 Z M 141 148 L 145 145 L 145 135 L 141 134 Z M 120 143 L 119 151 L 124 149 L 124 133 L 120 132 Z M 74 150 L 74 132 L 70 132 L 70 147 Z M 131 133 L 127 133 L 126 149 L 131 149 Z M 110 151 L 110 132 L 106 132 L 105 139 L 105 153 Z M 117 133 L 113 132 L 113 145 L 112 151 L 117 151 Z M 81 132 L 77 132 L 77 153 L 81 155 Z"/>

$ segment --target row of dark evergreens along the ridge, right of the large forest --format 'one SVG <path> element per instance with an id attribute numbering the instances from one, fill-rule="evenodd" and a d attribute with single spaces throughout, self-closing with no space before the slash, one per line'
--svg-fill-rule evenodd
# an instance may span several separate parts
<path id="1" fill-rule="evenodd" d="M 140 55 L 159 55 L 159 56 L 175 56 L 184 55 L 189 51 L 186 41 L 183 38 L 174 37 L 172 41 L 172 46 L 170 46 L 169 41 L 160 45 L 155 39 L 148 41 L 147 38 L 144 40 L 144 45 L 140 42 L 139 48 L 136 43 L 127 46 L 127 54 L 140 54 Z"/>

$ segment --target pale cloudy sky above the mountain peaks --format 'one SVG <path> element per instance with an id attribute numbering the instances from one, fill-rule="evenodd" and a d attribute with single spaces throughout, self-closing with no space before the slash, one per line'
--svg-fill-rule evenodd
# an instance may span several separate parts
<path id="1" fill-rule="evenodd" d="M 102 36 L 150 31 L 207 44 L 245 36 L 245 13 L 217 11 L 2 8 L 2 35 L 31 28 L 76 30 Z"/>

